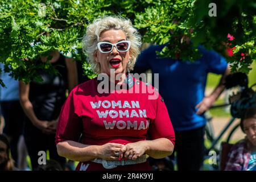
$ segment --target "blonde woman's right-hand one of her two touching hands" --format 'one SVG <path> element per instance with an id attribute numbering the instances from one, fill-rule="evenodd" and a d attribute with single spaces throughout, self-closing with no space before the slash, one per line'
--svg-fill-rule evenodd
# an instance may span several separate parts
<path id="1" fill-rule="evenodd" d="M 138 157 L 144 155 L 148 150 L 147 141 L 139 141 L 135 143 L 127 143 L 119 152 L 119 158 L 127 158 L 136 160 Z"/>

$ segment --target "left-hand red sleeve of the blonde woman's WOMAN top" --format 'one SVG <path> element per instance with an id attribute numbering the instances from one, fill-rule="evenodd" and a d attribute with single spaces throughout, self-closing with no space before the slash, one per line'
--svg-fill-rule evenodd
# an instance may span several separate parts
<path id="1" fill-rule="evenodd" d="M 82 133 L 81 118 L 75 113 L 76 101 L 74 98 L 74 90 L 69 94 L 61 108 L 55 137 L 56 144 L 65 140 L 73 140 L 77 142 Z"/>

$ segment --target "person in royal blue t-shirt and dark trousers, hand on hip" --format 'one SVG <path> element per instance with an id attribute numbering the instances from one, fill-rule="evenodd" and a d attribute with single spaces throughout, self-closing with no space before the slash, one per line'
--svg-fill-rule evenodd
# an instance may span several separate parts
<path id="1" fill-rule="evenodd" d="M 148 69 L 153 74 L 159 73 L 159 93 L 166 103 L 175 130 L 177 167 L 181 171 L 197 171 L 204 158 L 204 112 L 225 89 L 224 81 L 230 68 L 224 57 L 203 46 L 199 46 L 201 58 L 193 62 L 158 56 L 156 51 L 161 51 L 163 47 L 150 46 L 142 51 L 134 73 L 143 73 Z M 213 92 L 205 96 L 210 72 L 222 77 Z M 174 153 L 171 158 L 174 158 Z"/>

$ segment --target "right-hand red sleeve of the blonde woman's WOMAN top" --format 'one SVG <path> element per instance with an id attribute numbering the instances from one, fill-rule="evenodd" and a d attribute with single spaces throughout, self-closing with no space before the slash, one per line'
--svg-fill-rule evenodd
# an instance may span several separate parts
<path id="1" fill-rule="evenodd" d="M 150 139 L 167 138 L 175 144 L 174 128 L 172 127 L 166 105 L 160 94 L 156 103 L 156 117 L 150 124 L 148 134 Z"/>

